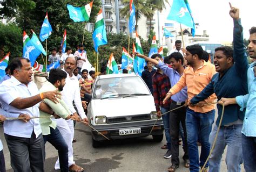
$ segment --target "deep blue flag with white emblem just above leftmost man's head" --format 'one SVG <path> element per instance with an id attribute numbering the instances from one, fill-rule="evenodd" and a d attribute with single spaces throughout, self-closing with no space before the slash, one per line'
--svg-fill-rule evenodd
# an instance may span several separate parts
<path id="1" fill-rule="evenodd" d="M 38 40 L 39 41 L 39 40 Z M 41 51 L 37 49 L 31 39 L 28 37 L 25 31 L 23 31 L 23 58 L 29 59 L 31 66 L 34 65 L 37 57 L 41 54 Z"/>

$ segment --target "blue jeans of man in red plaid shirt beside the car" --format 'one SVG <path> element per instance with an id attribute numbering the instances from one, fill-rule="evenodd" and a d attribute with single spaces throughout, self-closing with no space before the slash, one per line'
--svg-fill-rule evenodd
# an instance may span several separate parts
<path id="1" fill-rule="evenodd" d="M 169 108 L 165 108 L 165 107 L 161 107 L 161 113 L 165 113 L 167 111 L 169 111 Z M 170 138 L 170 132 L 169 132 L 169 128 L 170 128 L 170 113 L 166 113 L 162 116 L 163 118 L 163 123 L 164 123 L 164 133 L 165 133 L 165 138 L 167 141 L 167 148 L 170 150 L 171 149 L 171 138 Z"/>

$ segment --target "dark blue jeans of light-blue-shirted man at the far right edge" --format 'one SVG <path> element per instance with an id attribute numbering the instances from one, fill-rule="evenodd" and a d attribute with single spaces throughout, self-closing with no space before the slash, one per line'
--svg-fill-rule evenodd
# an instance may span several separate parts
<path id="1" fill-rule="evenodd" d="M 242 134 L 242 157 L 246 172 L 256 171 L 256 137 L 246 137 Z"/>

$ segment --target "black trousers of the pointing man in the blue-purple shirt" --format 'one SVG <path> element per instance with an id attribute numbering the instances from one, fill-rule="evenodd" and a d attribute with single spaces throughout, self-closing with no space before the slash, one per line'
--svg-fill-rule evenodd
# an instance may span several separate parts
<path id="1" fill-rule="evenodd" d="M 181 104 L 183 105 L 183 104 Z M 181 105 L 177 105 L 172 102 L 170 105 L 170 110 L 180 107 Z M 188 160 L 188 152 L 187 152 L 187 132 L 186 132 L 186 109 L 187 107 L 181 107 L 175 111 L 170 112 L 170 137 L 171 137 L 171 154 L 172 154 L 172 164 L 179 166 L 179 126 L 180 122 L 184 131 L 184 155 L 183 159 Z"/>

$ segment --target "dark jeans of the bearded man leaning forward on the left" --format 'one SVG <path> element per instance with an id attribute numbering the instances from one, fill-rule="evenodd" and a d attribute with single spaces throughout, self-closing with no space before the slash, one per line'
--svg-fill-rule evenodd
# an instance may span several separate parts
<path id="1" fill-rule="evenodd" d="M 60 134 L 58 128 L 53 129 L 50 127 L 51 134 L 43 135 L 44 144 L 46 141 L 50 142 L 58 150 L 60 171 L 69 171 L 69 156 L 68 156 L 68 145 Z"/>

